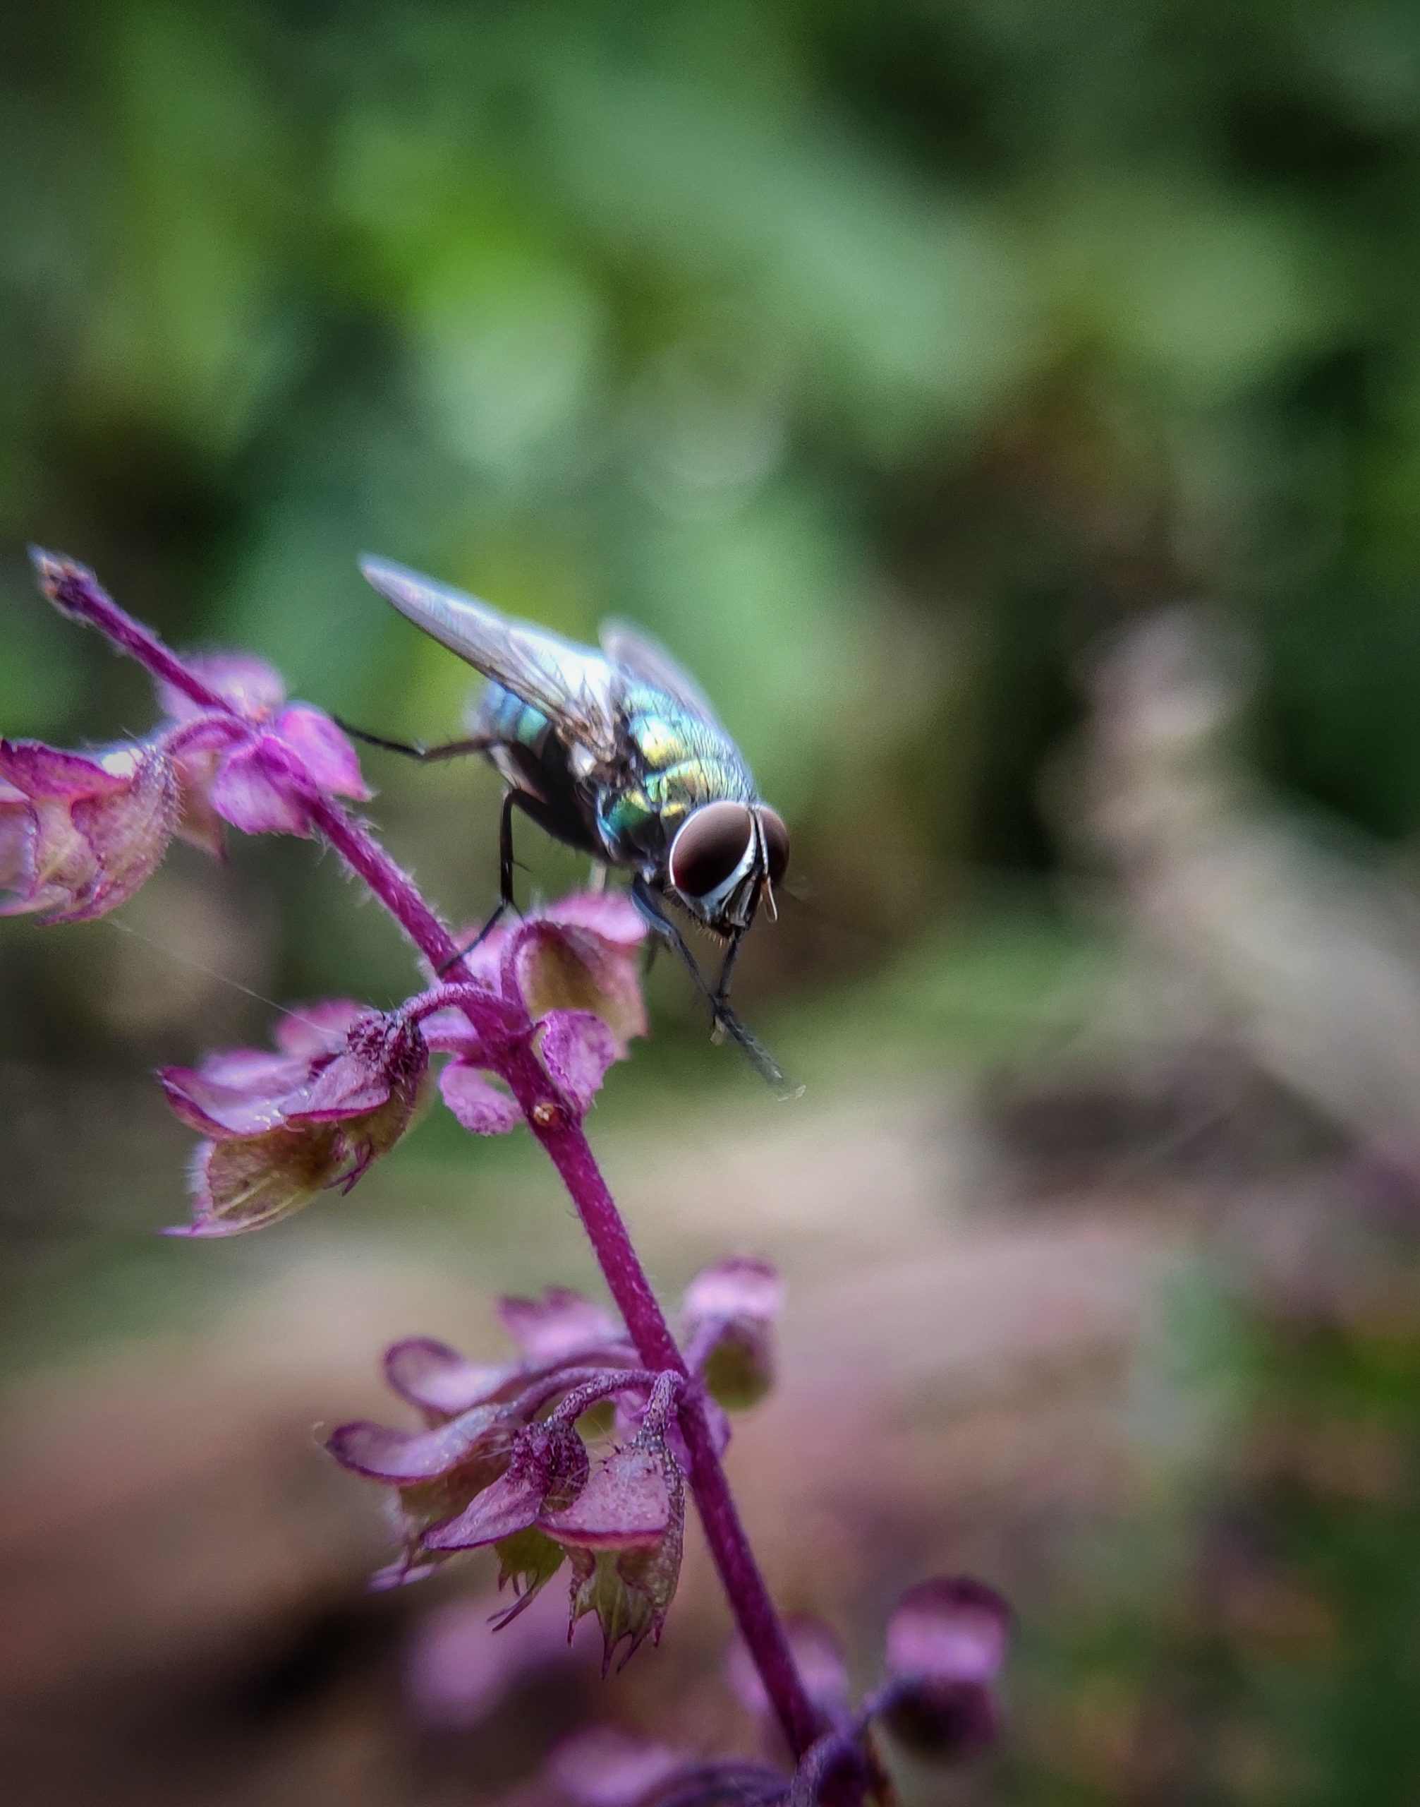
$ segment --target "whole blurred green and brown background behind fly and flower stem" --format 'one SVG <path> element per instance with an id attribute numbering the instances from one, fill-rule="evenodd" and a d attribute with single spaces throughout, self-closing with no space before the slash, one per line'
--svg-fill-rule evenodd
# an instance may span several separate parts
<path id="1" fill-rule="evenodd" d="M 1416 217 L 1404 0 L 0 16 L 4 730 L 150 721 L 38 540 L 453 734 L 374 549 L 640 618 L 789 819 L 739 997 L 806 1095 L 661 963 L 594 1133 L 670 1294 L 789 1278 L 732 1451 L 784 1601 L 864 1679 L 921 1572 L 1015 1601 L 999 1751 L 912 1803 L 1420 1798 Z M 491 775 L 367 773 L 477 920 Z M 555 1603 L 490 1657 L 477 1563 L 363 1592 L 313 1428 L 390 1411 L 385 1339 L 596 1285 L 526 1146 L 432 1117 L 291 1225 L 152 1234 L 154 1064 L 408 985 L 298 842 L 4 923 L 11 1800 L 533 1800 L 596 1718 L 746 1737 L 699 1549 L 605 1688 Z"/>

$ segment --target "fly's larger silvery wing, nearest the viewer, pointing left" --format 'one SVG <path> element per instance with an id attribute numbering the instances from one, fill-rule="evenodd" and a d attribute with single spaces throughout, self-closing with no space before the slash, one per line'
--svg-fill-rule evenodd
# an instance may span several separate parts
<path id="1" fill-rule="evenodd" d="M 461 589 L 385 558 L 361 558 L 360 569 L 416 627 L 540 708 L 562 739 L 578 741 L 602 761 L 616 755 L 612 674 L 600 652 L 509 620 Z"/>

